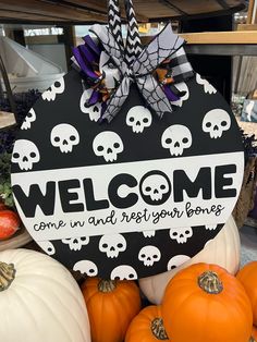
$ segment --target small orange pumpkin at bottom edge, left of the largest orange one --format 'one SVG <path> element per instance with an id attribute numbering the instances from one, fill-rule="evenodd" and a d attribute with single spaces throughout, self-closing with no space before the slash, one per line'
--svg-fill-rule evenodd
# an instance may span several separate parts
<path id="1" fill-rule="evenodd" d="M 131 322 L 125 342 L 170 342 L 161 318 L 160 306 L 145 307 Z"/>

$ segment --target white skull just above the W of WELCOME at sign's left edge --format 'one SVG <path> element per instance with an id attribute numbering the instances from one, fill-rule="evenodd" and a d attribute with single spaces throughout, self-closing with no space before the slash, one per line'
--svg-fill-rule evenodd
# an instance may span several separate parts
<path id="1" fill-rule="evenodd" d="M 33 142 L 26 139 L 17 139 L 15 142 L 12 162 L 19 163 L 21 170 L 32 170 L 33 164 L 39 160 L 39 150 Z"/>

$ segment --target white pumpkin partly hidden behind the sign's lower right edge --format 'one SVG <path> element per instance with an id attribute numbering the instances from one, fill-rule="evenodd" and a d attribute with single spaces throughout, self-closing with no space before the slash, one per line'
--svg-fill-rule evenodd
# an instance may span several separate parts
<path id="1" fill-rule="evenodd" d="M 204 249 L 181 266 L 147 278 L 139 279 L 142 292 L 150 303 L 159 305 L 168 282 L 181 269 L 197 262 L 216 264 L 235 274 L 240 268 L 241 243 L 238 229 L 231 216 L 213 240 L 207 242 Z"/>

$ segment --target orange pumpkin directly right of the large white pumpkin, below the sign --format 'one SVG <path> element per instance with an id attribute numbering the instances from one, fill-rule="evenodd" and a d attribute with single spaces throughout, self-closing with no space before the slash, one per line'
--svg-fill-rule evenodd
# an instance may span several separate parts
<path id="1" fill-rule="evenodd" d="M 121 342 L 140 310 L 139 289 L 131 280 L 87 278 L 82 285 L 93 342 Z"/>

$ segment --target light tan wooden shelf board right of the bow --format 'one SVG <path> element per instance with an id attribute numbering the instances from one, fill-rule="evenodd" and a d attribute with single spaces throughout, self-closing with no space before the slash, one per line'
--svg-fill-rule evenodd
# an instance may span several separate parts
<path id="1" fill-rule="evenodd" d="M 187 45 L 192 44 L 257 44 L 257 30 L 203 32 L 180 34 Z"/>

